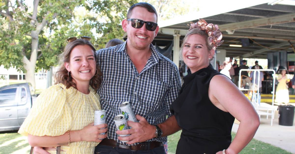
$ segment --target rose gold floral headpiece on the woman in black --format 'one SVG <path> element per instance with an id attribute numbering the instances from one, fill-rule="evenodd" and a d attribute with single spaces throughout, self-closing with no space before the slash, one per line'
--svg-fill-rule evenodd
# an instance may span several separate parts
<path id="1" fill-rule="evenodd" d="M 216 49 L 218 46 L 220 46 L 224 40 L 221 41 L 222 39 L 222 33 L 219 30 L 217 25 L 213 25 L 212 23 L 207 23 L 204 19 L 200 19 L 198 22 L 191 23 L 191 28 L 189 28 L 189 31 L 193 28 L 199 27 L 201 30 L 206 31 L 208 34 L 208 40 L 210 45 L 212 45 L 212 49 Z"/>

